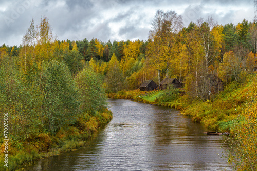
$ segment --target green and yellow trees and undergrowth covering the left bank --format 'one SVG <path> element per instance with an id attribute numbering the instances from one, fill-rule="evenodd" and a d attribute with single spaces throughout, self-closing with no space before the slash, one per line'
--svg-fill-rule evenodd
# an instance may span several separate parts
<path id="1" fill-rule="evenodd" d="M 76 146 L 111 120 L 101 75 L 86 65 L 75 42 L 71 46 L 55 40 L 43 17 L 36 26 L 32 20 L 22 46 L 0 48 L 0 113 L 8 113 L 9 169 L 68 141 Z M 0 140 L 4 147 L 4 136 Z"/>

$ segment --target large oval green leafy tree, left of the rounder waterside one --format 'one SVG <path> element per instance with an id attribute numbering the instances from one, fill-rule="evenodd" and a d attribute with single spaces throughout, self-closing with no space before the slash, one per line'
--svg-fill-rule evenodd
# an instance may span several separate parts
<path id="1" fill-rule="evenodd" d="M 42 125 L 52 134 L 72 124 L 78 116 L 79 91 L 64 62 L 51 61 L 43 67 L 38 80 L 42 91 Z"/>

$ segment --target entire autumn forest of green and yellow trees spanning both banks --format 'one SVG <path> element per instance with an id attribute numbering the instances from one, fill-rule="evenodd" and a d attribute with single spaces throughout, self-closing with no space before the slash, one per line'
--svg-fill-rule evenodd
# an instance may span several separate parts
<path id="1" fill-rule="evenodd" d="M 184 27 L 176 12 L 157 10 L 148 40 L 101 42 L 57 40 L 47 17 L 38 25 L 32 19 L 22 45 L 0 47 L 0 111 L 11 114 L 11 148 L 40 152 L 57 141 L 51 136 L 63 137 L 67 130 L 94 132 L 93 125 L 111 119 L 105 93 L 136 90 L 145 80 L 160 84 L 177 78 L 187 97 L 214 101 L 219 94 L 210 93 L 208 75 L 217 75 L 225 86 L 246 84 L 257 70 L 256 53 L 255 20 L 219 25 L 209 16 Z M 251 105 L 256 106 L 255 98 Z M 256 146 L 251 147 L 255 156 Z M 254 160 L 245 162 L 256 166 Z"/>

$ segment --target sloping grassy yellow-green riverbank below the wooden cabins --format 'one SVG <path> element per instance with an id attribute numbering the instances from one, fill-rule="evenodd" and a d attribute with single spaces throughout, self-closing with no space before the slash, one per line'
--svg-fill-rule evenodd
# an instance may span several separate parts
<path id="1" fill-rule="evenodd" d="M 160 90 L 150 96 L 140 97 L 144 94 L 139 90 L 120 91 L 116 94 L 108 94 L 111 98 L 134 99 L 143 103 L 153 105 L 167 106 L 181 110 L 182 114 L 192 116 L 194 122 L 204 124 L 208 129 L 220 132 L 234 132 L 234 120 L 245 109 L 248 97 L 254 91 L 256 79 L 250 77 L 245 84 L 230 83 L 226 86 L 224 92 L 219 94 L 219 98 L 214 98 L 210 101 L 201 101 L 193 99 L 189 95 L 182 95 L 173 98 L 172 100 L 164 100 L 165 93 Z"/>

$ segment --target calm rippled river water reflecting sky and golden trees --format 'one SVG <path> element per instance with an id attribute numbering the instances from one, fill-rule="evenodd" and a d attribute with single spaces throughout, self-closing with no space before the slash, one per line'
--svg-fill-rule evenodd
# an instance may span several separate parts
<path id="1" fill-rule="evenodd" d="M 41 159 L 25 170 L 230 170 L 218 156 L 222 136 L 161 106 L 109 99 L 113 120 L 85 147 Z"/>

